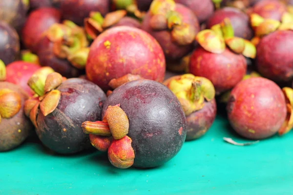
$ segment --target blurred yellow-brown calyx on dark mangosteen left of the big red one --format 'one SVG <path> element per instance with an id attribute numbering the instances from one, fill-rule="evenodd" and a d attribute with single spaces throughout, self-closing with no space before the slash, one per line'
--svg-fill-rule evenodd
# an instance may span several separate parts
<path id="1" fill-rule="evenodd" d="M 74 67 L 84 69 L 89 53 L 89 42 L 84 28 L 70 20 L 53 24 L 46 32 L 53 42 L 53 52 L 61 59 L 67 59 Z"/>

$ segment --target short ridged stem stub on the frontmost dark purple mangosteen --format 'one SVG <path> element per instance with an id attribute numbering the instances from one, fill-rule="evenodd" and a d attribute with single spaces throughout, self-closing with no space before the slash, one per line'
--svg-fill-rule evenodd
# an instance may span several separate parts
<path id="1" fill-rule="evenodd" d="M 85 134 L 93 134 L 97 136 L 111 136 L 111 131 L 108 123 L 103 121 L 85 121 L 82 124 L 82 128 Z"/>

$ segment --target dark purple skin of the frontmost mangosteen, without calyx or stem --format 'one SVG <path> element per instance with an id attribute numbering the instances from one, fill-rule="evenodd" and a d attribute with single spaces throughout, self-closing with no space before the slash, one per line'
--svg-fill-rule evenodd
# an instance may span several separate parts
<path id="1" fill-rule="evenodd" d="M 157 167 L 179 152 L 186 138 L 186 117 L 166 86 L 153 80 L 128 82 L 107 98 L 102 116 L 109 105 L 119 103 L 129 120 L 134 167 Z"/>

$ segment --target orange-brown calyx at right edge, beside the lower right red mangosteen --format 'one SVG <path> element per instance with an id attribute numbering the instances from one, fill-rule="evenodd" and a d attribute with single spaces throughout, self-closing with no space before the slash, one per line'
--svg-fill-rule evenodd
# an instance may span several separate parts
<path id="1" fill-rule="evenodd" d="M 293 128 L 293 89 L 284 87 L 282 89 L 287 105 L 287 117 L 282 127 L 279 129 L 279 135 L 288 133 Z"/>

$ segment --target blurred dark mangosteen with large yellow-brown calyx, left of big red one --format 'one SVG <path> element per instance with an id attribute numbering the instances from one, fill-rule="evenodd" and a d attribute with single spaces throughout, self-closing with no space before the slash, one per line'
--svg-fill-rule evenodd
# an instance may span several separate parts
<path id="1" fill-rule="evenodd" d="M 42 66 L 50 66 L 63 77 L 76 78 L 84 74 L 88 44 L 84 29 L 64 20 L 43 34 L 37 55 Z"/>

